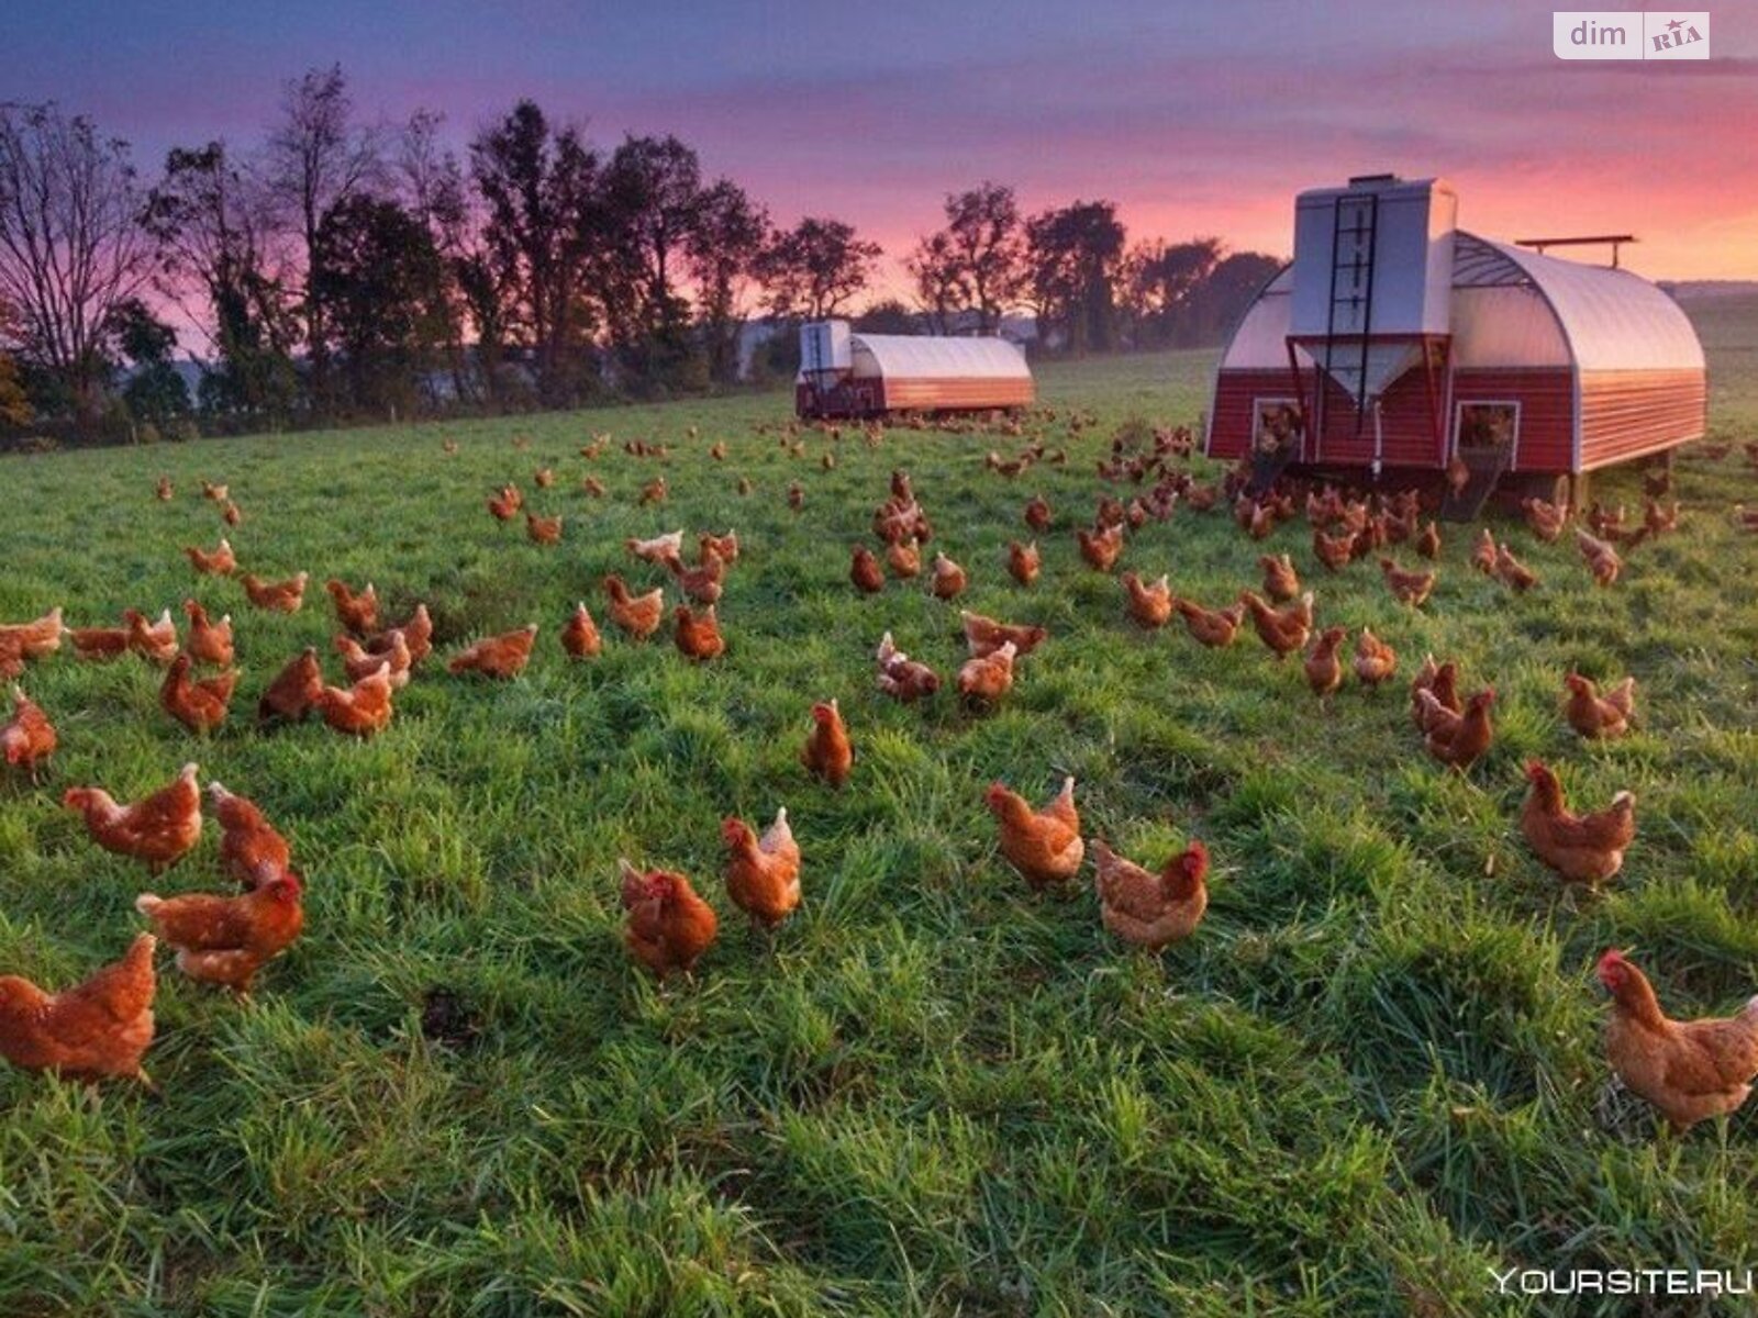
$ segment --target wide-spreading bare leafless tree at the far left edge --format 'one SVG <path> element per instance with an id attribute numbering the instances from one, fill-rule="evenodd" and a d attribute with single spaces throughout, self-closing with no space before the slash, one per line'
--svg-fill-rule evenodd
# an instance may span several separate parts
<path id="1" fill-rule="evenodd" d="M 127 142 L 53 104 L 0 105 L 0 301 L 21 360 L 83 424 L 102 406 L 113 316 L 151 269 L 139 200 Z"/>

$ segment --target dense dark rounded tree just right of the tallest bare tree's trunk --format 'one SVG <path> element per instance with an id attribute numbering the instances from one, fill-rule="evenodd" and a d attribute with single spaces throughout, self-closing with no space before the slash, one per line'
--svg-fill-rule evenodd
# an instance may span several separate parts
<path id="1" fill-rule="evenodd" d="M 415 411 L 445 344 L 443 267 L 427 227 L 355 193 L 318 225 L 311 279 L 346 395 L 367 413 Z"/>

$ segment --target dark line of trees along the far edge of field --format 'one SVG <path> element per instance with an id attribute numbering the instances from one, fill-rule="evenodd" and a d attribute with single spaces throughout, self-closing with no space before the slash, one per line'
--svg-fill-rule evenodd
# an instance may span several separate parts
<path id="1" fill-rule="evenodd" d="M 872 288 L 875 243 L 833 216 L 779 227 L 673 135 L 607 149 L 531 100 L 462 153 L 441 128 L 429 111 L 362 123 L 341 67 L 313 69 L 264 141 L 178 146 L 148 179 L 88 118 L 0 105 L 0 427 L 190 434 L 693 394 L 791 373 L 791 329 Z M 904 267 L 916 304 L 868 299 L 861 325 L 1028 318 L 1035 351 L 1081 355 L 1211 343 L 1276 262 L 1130 244 L 1111 202 L 1027 216 L 983 183 L 946 199 Z M 756 318 L 777 332 L 747 362 Z"/>

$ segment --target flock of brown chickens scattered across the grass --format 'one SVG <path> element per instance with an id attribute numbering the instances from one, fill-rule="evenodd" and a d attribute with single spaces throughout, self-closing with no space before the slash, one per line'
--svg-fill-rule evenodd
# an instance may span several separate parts
<path id="1" fill-rule="evenodd" d="M 1020 431 L 1011 424 L 1006 432 Z M 877 443 L 875 436 L 877 431 L 867 431 L 868 443 Z M 605 443 L 599 436 L 580 452 L 589 459 L 596 457 Z M 803 453 L 793 429 L 781 443 L 796 455 Z M 1252 540 L 1268 538 L 1278 524 L 1296 517 L 1297 487 L 1282 485 L 1269 494 L 1253 496 L 1243 467 L 1227 473 L 1222 482 L 1197 483 L 1174 462 L 1187 457 L 1190 446 L 1187 431 L 1157 431 L 1151 446 L 1125 439 L 1113 445 L 1109 460 L 1099 464 L 1099 474 L 1137 485 L 1151 476 L 1153 485 L 1129 504 L 1111 496 L 1101 497 L 1093 525 L 1076 529 L 1079 554 L 1092 569 L 1115 571 L 1125 532 L 1139 529 L 1148 518 L 1166 520 L 1178 504 L 1194 511 L 1227 504 Z M 624 448 L 642 457 L 665 457 L 665 448 L 656 445 L 629 443 Z M 455 452 L 455 445 L 448 443 L 447 452 Z M 708 455 L 714 460 L 724 459 L 724 443 L 714 445 Z M 826 469 L 833 460 L 833 452 L 823 455 Z M 1039 460 L 1062 462 L 1065 453 L 1051 453 L 1042 443 L 1035 443 L 1013 459 L 990 452 L 984 466 L 1002 476 L 1018 476 Z M 1623 568 L 1619 547 L 1628 552 L 1677 525 L 1677 503 L 1670 508 L 1660 504 L 1670 474 L 1649 474 L 1647 482 L 1649 499 L 1640 525 L 1626 525 L 1621 508 L 1612 511 L 1595 504 L 1586 513 L 1587 525 L 1575 527 L 1582 559 L 1602 587 L 1617 580 Z M 536 473 L 540 489 L 552 483 L 552 469 Z M 740 485 L 749 490 L 747 482 Z M 585 489 L 592 496 L 603 494 L 603 485 L 592 478 L 587 478 Z M 156 494 L 165 501 L 174 497 L 169 480 L 160 480 Z M 223 485 L 204 483 L 204 496 L 222 506 L 229 525 L 239 524 L 241 513 Z M 643 485 L 643 506 L 665 501 L 663 476 Z M 798 483 L 789 489 L 788 503 L 796 511 L 803 508 Z M 524 510 L 524 499 L 515 485 L 506 485 L 487 506 L 498 520 L 510 522 Z M 1558 540 L 1570 520 L 1568 508 L 1544 501 L 1528 499 L 1522 508 L 1528 525 L 1545 541 Z M 1399 566 L 1382 552 L 1408 543 L 1420 557 L 1438 559 L 1440 529 L 1433 520 L 1420 522 L 1419 492 L 1348 497 L 1327 485 L 1306 490 L 1304 511 L 1311 524 L 1313 555 L 1324 569 L 1336 573 L 1359 559 L 1375 559 L 1399 605 L 1420 608 L 1427 603 L 1436 571 Z M 1050 532 L 1055 522 L 1042 496 L 1027 503 L 1023 518 L 1035 534 Z M 556 545 L 563 536 L 559 517 L 538 517 L 533 511 L 526 511 L 526 529 L 538 545 Z M 879 554 L 856 545 L 849 568 L 856 590 L 883 592 L 886 569 L 897 578 L 914 578 L 923 571 L 921 547 L 933 538 L 933 529 L 907 473 L 893 473 L 890 494 L 874 511 L 872 531 L 883 547 L 884 569 Z M 672 634 L 677 648 L 698 663 L 721 657 L 726 640 L 716 605 L 728 569 L 740 561 L 737 534 L 698 536 L 694 562 L 684 559 L 682 529 L 650 540 L 628 540 L 624 548 L 633 559 L 663 568 L 696 606 L 679 605 L 673 610 Z M 190 547 L 185 554 L 199 575 L 236 576 L 255 608 L 294 613 L 304 603 L 306 573 L 280 582 L 239 573 L 232 547 L 223 538 L 214 550 Z M 1471 564 L 1512 590 L 1524 592 L 1536 585 L 1536 575 L 1487 529 L 1473 550 Z M 1236 603 L 1224 608 L 1204 608 L 1174 596 L 1164 575 L 1144 582 L 1125 571 L 1120 575 L 1125 615 L 1141 627 L 1157 629 L 1176 613 L 1195 641 L 1217 648 L 1232 645 L 1250 617 L 1259 640 L 1278 661 L 1303 654 L 1308 685 L 1320 701 L 1327 701 L 1345 682 L 1347 629 L 1333 626 L 1315 631 L 1315 592 L 1303 589 L 1287 554 L 1264 555 L 1259 566 L 1262 592 L 1245 589 Z M 1009 543 L 1006 568 L 1014 582 L 1030 587 L 1041 569 L 1037 541 Z M 953 601 L 967 583 L 967 571 L 937 552 L 930 576 L 933 596 Z M 378 596 L 371 583 L 357 592 L 341 580 L 331 580 L 325 589 L 341 626 L 336 650 L 348 685 L 327 685 L 316 650 L 306 648 L 262 692 L 258 721 L 271 726 L 318 713 L 341 733 L 371 736 L 390 722 L 394 692 L 418 673 L 431 654 L 432 620 L 425 605 L 420 605 L 401 626 L 381 627 Z M 636 594 L 621 575 L 610 575 L 603 580 L 603 590 L 610 622 L 631 640 L 647 640 L 661 627 L 663 583 Z M 169 610 L 156 622 L 130 610 L 123 613 L 120 627 L 76 629 L 63 624 L 62 610 L 56 608 L 35 622 L 0 627 L 0 675 L 19 677 L 28 663 L 56 652 L 63 636 L 81 659 L 104 661 L 134 652 L 165 668 L 160 691 L 163 710 L 190 731 L 206 735 L 225 722 L 237 684 L 237 671 L 230 668 L 232 619 L 227 615 L 214 622 L 195 599 L 185 603 L 185 613 L 188 629 L 179 636 Z M 956 691 L 969 705 L 988 708 L 1007 696 L 1016 668 L 1048 640 L 1048 631 L 969 610 L 960 612 L 960 620 L 969 659 L 958 670 Z M 531 624 L 480 640 L 454 654 L 447 668 L 454 675 L 515 678 L 531 657 L 536 634 L 538 626 Z M 561 643 L 575 659 L 601 652 L 603 641 L 585 603 L 575 608 L 561 629 Z M 199 677 L 199 666 L 220 671 Z M 1361 684 L 1373 687 L 1396 675 L 1398 655 L 1373 631 L 1362 629 L 1348 668 Z M 900 650 L 890 631 L 879 641 L 875 670 L 879 691 L 898 701 L 932 698 L 941 687 L 941 677 Z M 1456 771 L 1468 771 L 1494 736 L 1494 689 L 1486 685 L 1466 698 L 1457 682 L 1456 663 L 1427 655 L 1410 687 L 1412 719 L 1435 759 Z M 25 770 L 35 780 L 42 763 L 56 750 L 56 731 L 44 710 L 18 685 L 12 698 L 14 713 L 0 729 L 0 750 L 9 766 Z M 1619 736 L 1635 717 L 1635 680 L 1624 678 L 1602 692 L 1589 678 L 1570 673 L 1563 712 L 1582 736 Z M 812 729 L 800 759 L 814 777 L 840 789 L 851 778 L 854 750 L 839 701 L 812 705 L 810 717 Z M 120 805 L 98 787 L 72 787 L 63 794 L 63 805 L 83 814 L 95 844 L 144 861 L 156 875 L 188 856 L 200 838 L 202 794 L 197 773 L 195 764 L 186 764 L 172 784 L 132 805 Z M 1603 810 L 1575 814 L 1549 766 L 1528 763 L 1526 778 L 1528 796 L 1519 824 L 1538 859 L 1565 882 L 1589 889 L 1616 875 L 1635 838 L 1633 794 L 1619 793 Z M 139 935 L 121 961 L 67 991 L 46 993 L 25 979 L 0 977 L 0 1054 L 28 1068 L 53 1068 L 90 1079 L 123 1075 L 144 1081 L 141 1063 L 153 1039 L 156 940 L 176 949 L 176 965 L 190 979 L 243 995 L 262 967 L 299 937 L 304 924 L 302 877 L 292 866 L 287 840 L 250 800 L 218 782 L 207 786 L 207 794 L 223 833 L 222 870 L 239 891 L 172 898 L 142 893 L 135 909 L 149 921 L 153 933 Z M 1083 836 L 1072 777 L 1062 782 L 1042 808 L 1034 810 L 1000 782 L 990 786 L 984 801 L 995 817 L 1002 858 L 1032 891 L 1069 886 L 1090 849 L 1101 919 L 1113 935 L 1160 951 L 1188 937 L 1201 923 L 1208 905 L 1210 865 L 1202 842 L 1190 840 L 1159 872 L 1136 865 L 1111 851 L 1102 838 Z M 740 819 L 726 819 L 723 842 L 728 898 L 751 917 L 754 928 L 774 935 L 802 898 L 800 845 L 786 808 L 777 812 L 763 833 Z M 673 972 L 693 972 L 719 931 L 714 907 L 682 873 L 640 870 L 621 859 L 619 875 L 629 952 L 661 979 Z M 1705 1116 L 1730 1112 L 1746 1100 L 1758 1077 L 1758 998 L 1735 1017 L 1672 1021 L 1660 1010 L 1642 972 L 1621 952 L 1607 952 L 1598 974 L 1614 998 L 1607 1033 L 1609 1058 L 1633 1091 L 1653 1102 L 1679 1128 Z"/>

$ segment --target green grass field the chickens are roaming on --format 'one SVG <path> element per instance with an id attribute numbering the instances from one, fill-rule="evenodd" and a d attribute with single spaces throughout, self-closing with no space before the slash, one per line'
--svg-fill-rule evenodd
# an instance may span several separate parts
<path id="1" fill-rule="evenodd" d="M 1725 439 L 1758 438 L 1753 323 L 1711 334 Z M 1322 573 L 1304 520 L 1264 547 L 1183 511 L 1132 536 L 1123 568 L 1204 603 L 1290 550 L 1322 622 L 1371 624 L 1406 673 L 1433 650 L 1468 689 L 1493 682 L 1498 740 L 1463 780 L 1424 754 L 1403 682 L 1320 713 L 1250 634 L 1224 652 L 1144 634 L 1079 562 L 1072 525 L 1109 489 L 1092 459 L 1125 418 L 1194 420 L 1210 366 L 1044 369 L 1050 406 L 1101 424 L 1051 425 L 1071 462 L 1020 482 L 983 471 L 988 438 L 905 432 L 842 439 L 826 473 L 823 436 L 800 460 L 752 432 L 786 416 L 781 394 L 0 462 L 0 619 L 60 603 L 95 626 L 195 594 L 234 615 L 246 670 L 241 717 L 209 742 L 158 710 L 135 659 L 26 673 L 62 752 L 40 789 L 0 787 L 0 970 L 70 982 L 142 926 L 144 868 L 86 840 L 58 807 L 70 784 L 128 800 L 195 759 L 264 805 L 308 875 L 306 937 L 251 1002 L 162 960 L 162 1097 L 0 1072 L 0 1313 L 1426 1318 L 1540 1311 L 1496 1299 L 1491 1267 L 1749 1264 L 1758 1109 L 1670 1139 L 1609 1095 L 1591 968 L 1631 947 L 1677 1014 L 1758 986 L 1758 541 L 1725 517 L 1758 504 L 1758 473 L 1686 455 L 1684 529 L 1603 592 L 1568 541 L 1503 525 L 1544 578 L 1510 596 L 1450 527 L 1420 613 L 1371 568 Z M 656 462 L 577 455 L 598 431 L 672 445 L 670 504 L 635 506 Z M 541 464 L 554 490 L 531 489 Z M 956 605 L 925 578 L 847 585 L 895 466 L 930 548 L 970 571 L 962 603 L 1053 633 L 986 717 L 949 691 L 874 691 L 884 629 L 942 673 L 962 657 Z M 605 499 L 580 492 L 589 473 Z M 179 547 L 222 531 L 200 478 L 243 506 L 244 566 L 313 573 L 302 613 L 192 576 Z M 568 515 L 559 548 L 489 518 L 505 480 Z M 1021 590 L 1002 550 L 1037 490 L 1058 524 Z M 745 550 L 728 655 L 703 668 L 621 640 L 596 585 L 657 580 L 621 541 L 677 525 L 737 527 Z M 538 657 L 506 685 L 432 664 L 369 743 L 258 735 L 262 684 L 302 645 L 329 654 L 329 575 L 371 578 L 392 617 L 429 601 L 440 655 L 536 620 Z M 580 597 L 607 647 L 568 664 L 556 638 Z M 1642 728 L 1579 742 L 1558 708 L 1570 666 L 1635 673 Z M 796 761 L 828 696 L 856 742 L 842 794 Z M 1603 900 L 1565 898 L 1517 835 L 1535 754 L 1579 805 L 1638 794 Z M 1064 773 L 1086 831 L 1125 854 L 1210 844 L 1210 917 L 1162 960 L 1104 933 L 1090 879 L 1034 900 L 999 859 L 984 786 L 1042 798 Z M 726 902 L 717 824 L 777 805 L 807 896 L 770 956 Z M 223 887 L 214 845 L 151 886 Z M 659 991 L 628 960 L 619 854 L 687 872 L 721 909 L 693 984 Z M 424 1037 L 436 986 L 475 1012 L 475 1042 Z"/>

